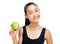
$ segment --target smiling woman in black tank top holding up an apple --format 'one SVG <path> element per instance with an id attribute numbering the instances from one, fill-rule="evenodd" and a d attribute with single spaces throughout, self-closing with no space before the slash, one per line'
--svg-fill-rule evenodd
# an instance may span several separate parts
<path id="1" fill-rule="evenodd" d="M 35 3 L 27 3 L 24 7 L 25 26 L 17 31 L 10 30 L 13 44 L 53 44 L 51 33 L 48 29 L 39 25 L 40 10 Z M 18 32 L 18 41 L 16 34 Z"/>

